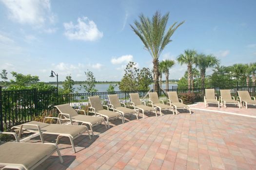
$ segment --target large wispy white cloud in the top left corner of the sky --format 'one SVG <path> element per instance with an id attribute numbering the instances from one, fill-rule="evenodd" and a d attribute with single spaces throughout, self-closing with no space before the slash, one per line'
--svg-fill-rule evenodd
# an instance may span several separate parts
<path id="1" fill-rule="evenodd" d="M 50 0 L 1 0 L 9 10 L 9 18 L 21 24 L 42 26 L 53 23 L 55 15 L 51 12 Z"/>

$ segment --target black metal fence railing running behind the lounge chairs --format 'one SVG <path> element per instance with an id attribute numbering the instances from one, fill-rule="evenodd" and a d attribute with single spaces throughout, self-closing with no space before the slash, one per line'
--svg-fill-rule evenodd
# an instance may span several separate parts
<path id="1" fill-rule="evenodd" d="M 227 85 L 225 87 L 206 87 L 214 88 L 217 97 L 220 95 L 220 89 L 230 89 L 232 96 L 236 96 L 237 90 L 247 90 L 251 96 L 256 96 L 256 86 L 239 86 Z M 189 88 L 173 86 L 172 89 L 166 91 L 177 91 L 180 93 L 195 93 L 196 101 L 202 102 L 205 88 L 195 87 Z M 154 91 L 154 90 L 152 90 Z M 53 115 L 57 116 L 58 112 L 55 105 L 69 103 L 71 106 L 88 105 L 89 96 L 100 96 L 104 104 L 109 103 L 109 94 L 118 94 L 122 102 L 130 102 L 130 93 L 138 93 L 140 99 L 148 102 L 149 96 L 146 96 L 148 91 L 116 91 L 116 92 L 93 92 L 93 93 L 74 93 L 74 94 L 59 94 L 57 90 L 39 92 L 36 89 L 30 90 L 13 90 L 2 91 L 0 87 L 0 131 L 10 129 L 12 126 L 31 121 L 35 116 Z M 159 91 L 159 98 L 166 101 L 167 96 L 164 92 Z"/>

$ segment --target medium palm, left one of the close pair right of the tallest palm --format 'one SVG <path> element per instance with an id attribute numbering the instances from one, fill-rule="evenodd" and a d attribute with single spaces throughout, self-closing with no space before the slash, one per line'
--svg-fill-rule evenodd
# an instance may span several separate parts
<path id="1" fill-rule="evenodd" d="M 197 51 L 195 50 L 185 50 L 184 54 L 179 54 L 177 57 L 178 63 L 182 66 L 183 64 L 186 64 L 188 67 L 188 87 L 191 86 L 191 80 L 192 80 L 192 66 L 196 63 L 196 55 Z"/>

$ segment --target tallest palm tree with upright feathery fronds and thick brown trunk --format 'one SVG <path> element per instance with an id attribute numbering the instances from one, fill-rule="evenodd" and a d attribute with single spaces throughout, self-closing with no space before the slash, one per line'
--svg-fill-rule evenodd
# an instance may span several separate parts
<path id="1" fill-rule="evenodd" d="M 152 19 L 141 14 L 139 16 L 139 21 L 134 21 L 135 26 L 130 25 L 134 33 L 137 34 L 140 40 L 143 42 L 144 48 L 149 51 L 153 58 L 153 75 L 155 76 L 154 83 L 155 90 L 157 92 L 159 91 L 158 58 L 165 46 L 172 41 L 170 38 L 176 29 L 184 23 L 184 21 L 178 24 L 175 22 L 171 27 L 168 28 L 167 32 L 165 32 L 168 18 L 169 13 L 161 16 L 161 14 L 157 11 Z"/>

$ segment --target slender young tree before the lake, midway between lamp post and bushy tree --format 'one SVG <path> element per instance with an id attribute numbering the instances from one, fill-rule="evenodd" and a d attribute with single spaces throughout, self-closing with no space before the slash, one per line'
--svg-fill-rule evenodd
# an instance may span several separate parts
<path id="1" fill-rule="evenodd" d="M 79 89 L 84 88 L 88 93 L 97 92 L 98 90 L 95 89 L 96 79 L 93 75 L 93 72 L 87 69 L 87 71 L 84 71 L 84 73 L 86 76 L 86 83 L 85 85 L 80 85 Z"/>

